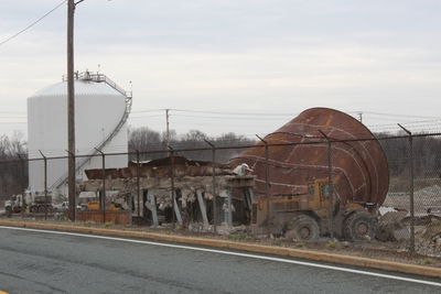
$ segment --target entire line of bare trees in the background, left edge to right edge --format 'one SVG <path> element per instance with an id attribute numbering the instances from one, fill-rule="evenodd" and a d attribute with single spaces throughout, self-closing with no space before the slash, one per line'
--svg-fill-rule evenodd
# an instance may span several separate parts
<path id="1" fill-rule="evenodd" d="M 402 134 L 405 135 L 405 134 Z M 407 138 L 386 139 L 390 133 L 376 133 L 386 153 L 391 181 L 400 181 L 408 184 L 410 167 L 409 140 Z M 236 133 L 225 133 L 218 137 L 209 137 L 201 131 L 192 130 L 178 135 L 175 131 L 170 132 L 169 145 L 174 150 L 192 150 L 209 148 L 205 141 L 216 148 L 229 148 L 216 150 L 216 162 L 226 163 L 237 156 L 244 148 L 252 145 L 256 140 Z M 140 159 L 154 160 L 168 156 L 165 133 L 149 129 L 148 127 L 135 128 L 129 131 L 129 151 L 141 152 Z M 152 151 L 164 151 L 158 153 L 143 153 Z M 0 200 L 11 195 L 22 193 L 28 187 L 28 162 L 26 142 L 20 133 L 11 137 L 0 135 Z M 212 161 L 211 150 L 176 152 L 192 160 Z M 131 155 L 130 160 L 136 160 Z M 441 137 L 413 138 L 413 171 L 415 178 L 441 178 Z M 407 183 L 407 184 L 406 184 Z"/>

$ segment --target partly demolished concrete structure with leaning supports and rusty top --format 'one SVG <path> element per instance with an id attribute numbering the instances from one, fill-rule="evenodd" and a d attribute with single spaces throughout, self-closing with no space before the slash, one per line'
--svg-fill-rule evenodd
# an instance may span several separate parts
<path id="1" fill-rule="evenodd" d="M 130 162 L 126 168 L 87 170 L 86 175 L 82 192 L 95 193 L 100 207 L 105 197 L 106 207 L 121 207 L 138 224 L 201 222 L 208 228 L 215 221 L 249 222 L 254 176 L 237 175 L 224 164 L 168 156 Z"/>

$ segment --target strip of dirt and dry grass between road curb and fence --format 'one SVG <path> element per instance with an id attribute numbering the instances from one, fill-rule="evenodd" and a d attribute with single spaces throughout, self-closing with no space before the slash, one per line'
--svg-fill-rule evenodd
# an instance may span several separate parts
<path id="1" fill-rule="evenodd" d="M 209 239 L 218 239 L 218 240 L 229 240 L 237 242 L 249 242 L 265 246 L 276 246 L 276 247 L 286 247 L 286 248 L 294 248 L 294 249 L 308 249 L 320 252 L 330 252 L 336 254 L 345 254 L 345 255 L 354 255 L 354 257 L 364 257 L 372 259 L 380 259 L 388 260 L 395 262 L 402 262 L 409 264 L 420 264 L 426 266 L 434 266 L 441 268 L 441 244 L 435 244 L 435 253 L 432 251 L 422 251 L 422 253 L 411 253 L 409 252 L 409 248 L 407 246 L 408 242 L 399 242 L 399 241 L 388 241 L 380 242 L 377 240 L 364 241 L 364 242 L 348 242 L 348 241 L 337 241 L 331 240 L 329 238 L 322 238 L 319 242 L 301 242 L 301 241 L 292 241 L 287 240 L 284 238 L 267 238 L 267 237 L 256 237 L 251 236 L 245 226 L 235 228 L 229 235 L 213 235 L 211 232 L 197 232 L 197 231 L 189 231 L 183 230 L 181 228 L 172 228 L 168 226 L 163 226 L 161 228 L 151 228 L 144 226 L 120 226 L 114 224 L 94 224 L 92 221 L 86 222 L 69 222 L 69 221 L 54 221 L 54 220 L 39 220 L 35 218 L 22 219 L 17 216 L 13 218 L 8 218 L 11 221 L 32 221 L 32 222 L 45 222 L 45 224 L 57 224 L 57 225 L 69 225 L 69 226 L 84 226 L 84 227 L 94 227 L 94 228 L 108 228 L 108 229 L 121 229 L 121 230 L 132 230 L 132 231 L 146 231 L 146 232 L 157 232 L 157 233 L 165 233 L 165 235 L 176 235 L 184 237 L 198 237 L 198 238 L 209 238 Z M 441 222 L 439 224 L 441 226 Z M 437 224 L 438 226 L 438 224 Z M 219 231 L 222 231 L 222 227 L 219 227 Z M 434 229 L 438 229 L 434 228 Z M 422 241 L 421 241 L 422 240 Z M 424 247 L 422 244 L 423 239 L 416 239 L 416 249 L 419 250 L 420 247 Z M 432 242 L 432 240 L 430 240 Z M 420 250 L 421 251 L 421 250 Z"/>

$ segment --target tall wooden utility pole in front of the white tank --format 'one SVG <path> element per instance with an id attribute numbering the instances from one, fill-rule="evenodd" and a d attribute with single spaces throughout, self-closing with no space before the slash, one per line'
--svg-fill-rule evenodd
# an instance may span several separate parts
<path id="1" fill-rule="evenodd" d="M 75 0 L 67 1 L 67 149 L 68 216 L 75 221 L 75 89 L 74 89 L 74 13 Z"/>

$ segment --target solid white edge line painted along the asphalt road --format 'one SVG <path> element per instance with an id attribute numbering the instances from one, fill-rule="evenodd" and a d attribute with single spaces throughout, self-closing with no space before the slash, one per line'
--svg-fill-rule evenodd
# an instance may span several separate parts
<path id="1" fill-rule="evenodd" d="M 377 277 L 398 280 L 398 281 L 404 281 L 404 282 L 411 282 L 411 283 L 426 284 L 426 285 L 441 287 L 441 283 L 430 282 L 430 281 L 424 281 L 424 280 L 410 279 L 410 277 L 404 277 L 404 276 L 391 275 L 391 274 L 375 273 L 375 272 L 368 272 L 368 271 L 361 271 L 361 270 L 354 270 L 354 269 L 347 269 L 347 268 L 334 266 L 334 265 L 326 265 L 326 264 L 319 264 L 319 263 L 312 263 L 312 262 L 295 261 L 295 260 L 290 260 L 290 259 L 239 253 L 239 252 L 234 252 L 234 251 L 224 251 L 224 250 L 198 248 L 198 247 L 191 247 L 191 246 L 169 244 L 169 243 L 161 243 L 161 242 L 153 242 L 153 241 L 133 240 L 133 239 L 86 235 L 86 233 L 77 233 L 77 232 L 51 231 L 51 230 L 17 228 L 17 227 L 7 227 L 7 226 L 0 226 L 0 229 L 45 232 L 45 233 L 53 233 L 53 235 L 76 236 L 76 237 L 104 239 L 104 240 L 121 241 L 121 242 L 129 242 L 129 243 L 140 243 L 140 244 L 150 244 L 150 246 L 159 246 L 159 247 L 179 248 L 179 249 L 211 252 L 211 253 L 218 253 L 218 254 L 225 254 L 225 255 L 235 255 L 235 257 L 243 257 L 243 258 L 251 258 L 251 259 L 259 259 L 259 260 L 267 260 L 267 261 L 299 264 L 299 265 L 305 265 L 305 266 L 312 266 L 312 268 L 320 268 L 320 269 L 326 269 L 326 270 L 333 270 L 333 271 L 364 274 L 364 275 L 370 275 L 370 276 L 377 276 Z"/>

